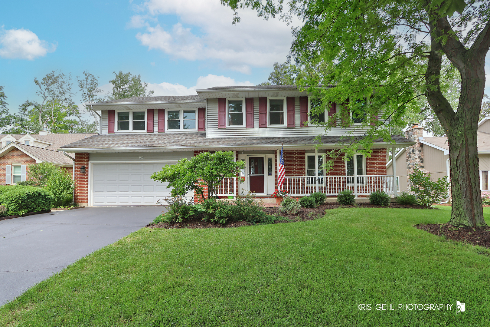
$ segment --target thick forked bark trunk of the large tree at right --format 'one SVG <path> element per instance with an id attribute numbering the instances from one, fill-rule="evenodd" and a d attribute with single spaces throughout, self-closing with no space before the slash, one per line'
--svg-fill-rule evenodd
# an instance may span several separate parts
<path id="1" fill-rule="evenodd" d="M 483 32 L 488 32 L 488 27 Z M 449 224 L 487 227 L 483 219 L 477 151 L 478 117 L 485 89 L 487 50 L 474 50 L 473 47 L 466 50 L 458 40 L 451 38 L 444 44 L 438 43 L 435 36 L 450 30 L 445 18 L 440 18 L 437 24 L 433 22 L 433 28 L 436 32 L 431 34 L 431 52 L 426 73 L 427 99 L 444 127 L 449 143 L 452 196 Z M 475 44 L 478 41 L 482 40 L 477 38 Z M 461 95 L 456 112 L 441 93 L 439 77 L 443 52 L 461 74 Z"/>

